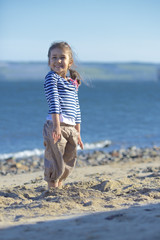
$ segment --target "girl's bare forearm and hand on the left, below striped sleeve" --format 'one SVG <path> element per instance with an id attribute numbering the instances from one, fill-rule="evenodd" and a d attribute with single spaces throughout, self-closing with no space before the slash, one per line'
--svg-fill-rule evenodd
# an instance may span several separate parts
<path id="1" fill-rule="evenodd" d="M 59 121 L 59 114 L 53 113 L 52 114 L 52 121 L 53 121 L 53 139 L 54 143 L 56 143 L 61 138 L 61 127 Z"/>

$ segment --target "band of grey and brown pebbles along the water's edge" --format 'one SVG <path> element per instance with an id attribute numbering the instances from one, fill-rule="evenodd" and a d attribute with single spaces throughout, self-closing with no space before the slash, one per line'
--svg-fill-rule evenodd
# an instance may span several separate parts
<path id="1" fill-rule="evenodd" d="M 78 154 L 76 167 L 105 165 L 111 162 L 129 162 L 136 159 L 148 159 L 160 157 L 160 147 L 137 148 L 132 146 L 128 149 L 114 150 L 112 152 L 93 151 Z M 0 175 L 35 172 L 44 169 L 43 157 L 33 156 L 26 159 L 8 158 L 0 161 Z"/>

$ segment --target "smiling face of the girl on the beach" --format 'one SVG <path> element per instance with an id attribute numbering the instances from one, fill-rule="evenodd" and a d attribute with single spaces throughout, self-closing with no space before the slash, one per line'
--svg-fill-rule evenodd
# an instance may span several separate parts
<path id="1" fill-rule="evenodd" d="M 56 72 L 61 77 L 65 78 L 68 68 L 72 65 L 67 50 L 54 48 L 51 50 L 49 57 L 49 66 L 52 71 Z"/>

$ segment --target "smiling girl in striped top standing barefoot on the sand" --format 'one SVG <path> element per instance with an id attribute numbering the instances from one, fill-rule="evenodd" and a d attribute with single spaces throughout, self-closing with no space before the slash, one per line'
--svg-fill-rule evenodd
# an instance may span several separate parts
<path id="1" fill-rule="evenodd" d="M 78 100 L 80 75 L 71 69 L 73 53 L 66 42 L 56 42 L 48 50 L 51 71 L 45 77 L 49 115 L 44 124 L 45 180 L 48 188 L 61 187 L 75 166 L 80 136 L 81 113 Z M 69 71 L 70 77 L 67 77 Z"/>

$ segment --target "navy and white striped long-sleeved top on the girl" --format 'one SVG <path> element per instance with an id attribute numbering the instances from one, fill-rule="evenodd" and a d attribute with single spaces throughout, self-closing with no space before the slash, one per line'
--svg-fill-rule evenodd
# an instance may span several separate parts
<path id="1" fill-rule="evenodd" d="M 53 71 L 45 77 L 44 90 L 49 106 L 49 114 L 57 113 L 81 123 L 78 87 L 74 81 L 65 80 Z"/>

